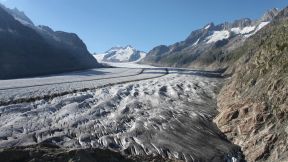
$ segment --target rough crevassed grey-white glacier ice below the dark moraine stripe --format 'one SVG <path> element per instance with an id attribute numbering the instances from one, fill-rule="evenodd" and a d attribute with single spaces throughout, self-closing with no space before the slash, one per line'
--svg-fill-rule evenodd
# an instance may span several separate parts
<path id="1" fill-rule="evenodd" d="M 0 148 L 49 142 L 184 161 L 235 160 L 239 148 L 212 122 L 221 78 L 177 69 L 169 69 L 169 74 L 166 69 L 110 70 L 97 73 L 109 71 L 115 78 L 72 73 L 0 81 L 1 101 L 17 100 L 0 106 Z M 42 83 L 47 85 L 38 85 Z M 69 93 L 23 102 L 55 92 Z"/>

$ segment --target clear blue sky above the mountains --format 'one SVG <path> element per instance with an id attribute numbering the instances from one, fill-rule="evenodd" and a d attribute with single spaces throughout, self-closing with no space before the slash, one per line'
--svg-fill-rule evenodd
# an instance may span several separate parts
<path id="1" fill-rule="evenodd" d="M 90 52 L 132 45 L 140 50 L 184 40 L 209 22 L 256 19 L 288 0 L 0 0 L 36 25 L 77 33 Z"/>

